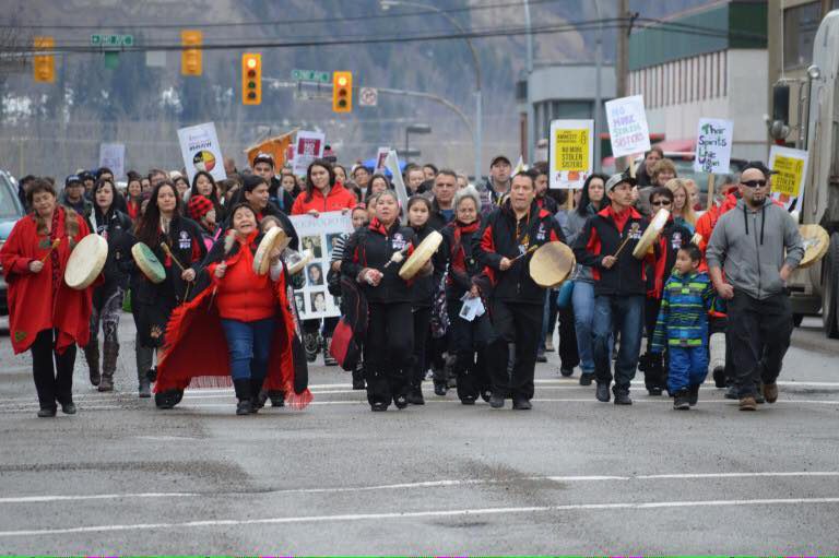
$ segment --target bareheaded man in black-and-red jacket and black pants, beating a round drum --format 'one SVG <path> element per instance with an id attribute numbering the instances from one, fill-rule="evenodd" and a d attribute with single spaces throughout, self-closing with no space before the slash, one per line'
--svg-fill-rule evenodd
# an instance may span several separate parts
<path id="1" fill-rule="evenodd" d="M 545 288 L 530 277 L 529 252 L 546 242 L 565 241 L 559 224 L 539 209 L 535 195 L 533 178 L 516 175 L 509 199 L 486 217 L 482 233 L 473 237 L 473 253 L 492 284 L 488 299 L 494 331 L 487 361 L 493 408 L 503 407 L 506 397 L 512 399 L 512 408 L 531 408 Z"/>

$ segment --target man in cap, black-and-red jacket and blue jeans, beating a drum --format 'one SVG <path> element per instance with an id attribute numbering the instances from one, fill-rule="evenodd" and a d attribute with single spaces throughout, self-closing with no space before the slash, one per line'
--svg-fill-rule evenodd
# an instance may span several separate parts
<path id="1" fill-rule="evenodd" d="M 654 263 L 654 254 L 645 260 L 633 256 L 649 225 L 649 221 L 633 207 L 634 186 L 635 178 L 626 174 L 612 176 L 606 182 L 610 205 L 586 222 L 574 245 L 577 261 L 589 265 L 594 277 L 594 373 L 598 401 L 604 403 L 610 400 L 612 359 L 608 345 L 615 325 L 621 333 L 613 389 L 616 405 L 633 404 L 629 383 L 635 378 L 641 349 L 647 295 L 645 268 Z"/>

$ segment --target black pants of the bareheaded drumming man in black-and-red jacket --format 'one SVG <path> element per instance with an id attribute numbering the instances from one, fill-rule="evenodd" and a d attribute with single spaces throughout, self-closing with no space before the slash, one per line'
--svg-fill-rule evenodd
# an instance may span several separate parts
<path id="1" fill-rule="evenodd" d="M 533 373 L 544 305 L 493 300 L 493 337 L 487 347 L 493 391 L 505 397 L 533 397 Z"/>

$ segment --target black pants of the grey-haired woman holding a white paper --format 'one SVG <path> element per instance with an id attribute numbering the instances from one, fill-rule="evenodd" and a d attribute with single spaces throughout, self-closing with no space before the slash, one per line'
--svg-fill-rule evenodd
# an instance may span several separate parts
<path id="1" fill-rule="evenodd" d="M 459 316 L 463 302 L 449 300 L 449 333 L 454 352 L 454 373 L 458 377 L 458 397 L 475 401 L 482 393 L 492 390 L 489 372 L 486 369 L 486 343 L 492 334 L 486 314 L 469 322 Z"/>

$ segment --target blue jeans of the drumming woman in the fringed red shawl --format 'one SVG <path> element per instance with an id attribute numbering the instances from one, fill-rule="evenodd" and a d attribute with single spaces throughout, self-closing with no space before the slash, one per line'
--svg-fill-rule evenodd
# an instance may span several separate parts
<path id="1" fill-rule="evenodd" d="M 265 377 L 275 324 L 274 318 L 255 322 L 222 319 L 234 380 L 259 380 Z"/>

